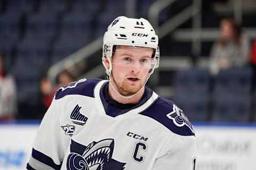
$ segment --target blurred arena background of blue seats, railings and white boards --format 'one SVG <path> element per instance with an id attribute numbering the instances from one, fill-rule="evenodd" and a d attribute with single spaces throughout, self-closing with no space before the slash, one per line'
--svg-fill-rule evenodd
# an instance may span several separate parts
<path id="1" fill-rule="evenodd" d="M 119 15 L 146 18 L 156 28 L 161 60 L 148 86 L 195 125 L 197 169 L 256 169 L 255 0 L 0 0 L 0 80 L 12 82 L 0 81 L 0 169 L 25 169 L 59 87 L 106 79 L 103 33 Z M 250 53 L 244 65 L 212 75 L 210 55 L 223 18 L 242 26 Z M 3 87 L 11 91 L 5 100 Z"/>

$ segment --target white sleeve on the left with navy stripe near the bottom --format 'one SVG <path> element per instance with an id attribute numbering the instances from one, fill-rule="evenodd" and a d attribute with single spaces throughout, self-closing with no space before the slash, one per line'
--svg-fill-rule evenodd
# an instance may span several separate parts
<path id="1" fill-rule="evenodd" d="M 53 99 L 39 126 L 27 169 L 60 169 L 65 155 L 57 101 Z"/>

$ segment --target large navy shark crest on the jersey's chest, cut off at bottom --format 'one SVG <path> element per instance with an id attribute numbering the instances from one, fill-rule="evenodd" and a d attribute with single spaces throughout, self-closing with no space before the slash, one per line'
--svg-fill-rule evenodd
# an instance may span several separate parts
<path id="1" fill-rule="evenodd" d="M 112 159 L 114 139 L 93 141 L 83 146 L 71 140 L 70 154 L 67 158 L 68 170 L 123 170 L 125 163 Z"/>

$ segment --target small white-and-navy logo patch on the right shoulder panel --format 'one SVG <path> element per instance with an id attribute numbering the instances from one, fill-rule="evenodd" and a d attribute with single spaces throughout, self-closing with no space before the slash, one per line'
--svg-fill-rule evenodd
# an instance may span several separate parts
<path id="1" fill-rule="evenodd" d="M 188 121 L 188 118 L 183 111 L 176 105 L 173 105 L 172 109 L 172 112 L 166 116 L 170 118 L 175 125 L 179 127 L 186 125 L 194 133 L 193 125 Z"/>

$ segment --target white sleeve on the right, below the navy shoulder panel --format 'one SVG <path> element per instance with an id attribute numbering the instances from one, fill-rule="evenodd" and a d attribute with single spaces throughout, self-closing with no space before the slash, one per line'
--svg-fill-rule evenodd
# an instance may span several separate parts
<path id="1" fill-rule="evenodd" d="M 153 170 L 177 169 L 195 170 L 196 141 L 195 136 L 173 134 L 159 153 Z"/>

